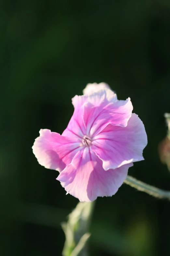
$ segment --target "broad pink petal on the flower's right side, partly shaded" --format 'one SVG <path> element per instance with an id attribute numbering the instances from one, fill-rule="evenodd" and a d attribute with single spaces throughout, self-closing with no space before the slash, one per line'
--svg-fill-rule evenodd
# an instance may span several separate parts
<path id="1" fill-rule="evenodd" d="M 142 152 L 146 145 L 145 127 L 133 113 L 126 127 L 107 125 L 93 138 L 92 150 L 103 161 L 103 168 L 108 170 L 144 160 Z"/>

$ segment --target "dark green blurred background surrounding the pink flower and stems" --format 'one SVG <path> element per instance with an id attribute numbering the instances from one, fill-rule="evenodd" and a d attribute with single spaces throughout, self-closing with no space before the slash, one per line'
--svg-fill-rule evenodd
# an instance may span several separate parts
<path id="1" fill-rule="evenodd" d="M 170 1 L 1 0 L 0 255 L 60 256 L 60 223 L 78 203 L 40 166 L 40 128 L 62 133 L 71 98 L 90 82 L 131 97 L 145 124 L 145 161 L 129 174 L 170 190 L 159 160 L 170 112 Z M 170 203 L 122 185 L 97 198 L 92 256 L 170 255 Z"/>

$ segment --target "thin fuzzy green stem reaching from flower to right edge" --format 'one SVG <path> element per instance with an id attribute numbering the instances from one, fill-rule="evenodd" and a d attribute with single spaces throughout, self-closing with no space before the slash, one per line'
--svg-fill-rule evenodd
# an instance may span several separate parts
<path id="1" fill-rule="evenodd" d="M 148 185 L 147 183 L 137 180 L 132 176 L 128 175 L 127 178 L 124 180 L 124 183 L 130 185 L 133 188 L 136 188 L 139 191 L 143 191 L 151 196 L 170 200 L 170 191 L 162 190 L 154 186 Z"/>

